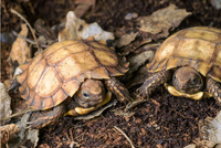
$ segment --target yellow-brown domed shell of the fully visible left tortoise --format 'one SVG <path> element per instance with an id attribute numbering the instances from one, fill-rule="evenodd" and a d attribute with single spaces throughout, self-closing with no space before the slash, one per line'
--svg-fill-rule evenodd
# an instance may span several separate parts
<path id="1" fill-rule="evenodd" d="M 22 97 L 33 108 L 48 109 L 72 97 L 85 78 L 123 75 L 128 63 L 103 41 L 87 39 L 54 43 L 20 68 Z"/>

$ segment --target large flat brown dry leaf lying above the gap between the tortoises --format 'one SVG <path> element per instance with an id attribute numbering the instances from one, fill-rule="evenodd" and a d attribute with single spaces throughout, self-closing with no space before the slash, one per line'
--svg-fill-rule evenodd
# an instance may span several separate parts
<path id="1" fill-rule="evenodd" d="M 160 9 L 148 17 L 139 17 L 140 31 L 157 34 L 159 38 L 166 38 L 169 35 L 168 30 L 173 30 L 180 22 L 191 12 L 187 12 L 185 9 L 178 9 L 175 4 L 170 4 L 167 8 Z"/>

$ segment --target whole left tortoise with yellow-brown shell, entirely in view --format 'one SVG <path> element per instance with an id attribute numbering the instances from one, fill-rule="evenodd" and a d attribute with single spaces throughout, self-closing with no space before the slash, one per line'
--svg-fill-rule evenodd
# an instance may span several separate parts
<path id="1" fill-rule="evenodd" d="M 65 112 L 77 116 L 96 109 L 110 99 L 108 92 L 120 102 L 130 101 L 129 92 L 116 78 L 128 66 L 126 59 L 118 56 L 103 40 L 67 40 L 52 44 L 21 65 L 22 73 L 17 75 L 10 89 L 19 89 L 31 108 L 44 112 L 44 116 L 30 123 L 31 128 L 42 128 Z M 73 99 L 77 105 L 67 110 Z"/>

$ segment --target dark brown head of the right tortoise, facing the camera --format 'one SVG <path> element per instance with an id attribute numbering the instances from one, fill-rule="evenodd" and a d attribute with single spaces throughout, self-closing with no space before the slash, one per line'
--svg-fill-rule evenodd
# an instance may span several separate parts
<path id="1" fill-rule="evenodd" d="M 173 76 L 172 84 L 179 91 L 188 94 L 194 94 L 203 87 L 202 76 L 192 67 L 179 67 Z"/>

